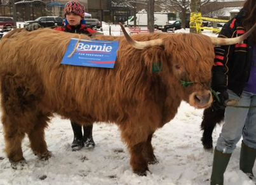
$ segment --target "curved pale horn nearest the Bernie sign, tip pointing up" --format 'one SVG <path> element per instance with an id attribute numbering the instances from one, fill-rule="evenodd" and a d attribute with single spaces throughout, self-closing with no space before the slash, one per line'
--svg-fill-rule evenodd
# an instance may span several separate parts
<path id="1" fill-rule="evenodd" d="M 126 38 L 127 42 L 129 44 L 131 44 L 131 46 L 133 46 L 133 48 L 145 49 L 147 47 L 163 45 L 163 40 L 162 39 L 154 39 L 154 40 L 151 40 L 151 41 L 143 41 L 143 42 L 134 41 L 133 39 L 131 39 L 130 35 L 126 32 L 125 27 L 123 26 L 123 24 L 119 23 L 119 25 L 121 26 L 121 29 L 123 30 L 123 34 L 125 35 L 125 38 Z"/>

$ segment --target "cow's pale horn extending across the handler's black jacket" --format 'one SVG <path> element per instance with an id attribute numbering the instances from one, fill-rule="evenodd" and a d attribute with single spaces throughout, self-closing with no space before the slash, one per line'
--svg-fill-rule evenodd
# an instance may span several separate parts
<path id="1" fill-rule="evenodd" d="M 234 38 L 219 38 L 219 37 L 210 37 L 212 40 L 212 43 L 217 46 L 224 46 L 224 45 L 232 45 L 237 44 L 243 40 L 245 40 L 250 34 L 252 34 L 253 30 L 256 28 L 256 23 L 253 25 L 253 27 L 248 30 L 245 34 L 234 37 Z"/>

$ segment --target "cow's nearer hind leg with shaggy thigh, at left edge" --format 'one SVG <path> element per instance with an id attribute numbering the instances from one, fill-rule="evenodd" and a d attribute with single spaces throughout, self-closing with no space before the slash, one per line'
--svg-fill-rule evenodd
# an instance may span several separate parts
<path id="1" fill-rule="evenodd" d="M 43 90 L 38 80 L 25 75 L 1 74 L 2 123 L 6 153 L 10 162 L 24 160 L 22 139 L 25 133 L 32 133 L 39 113 L 39 101 Z M 32 134 L 33 135 L 33 134 Z M 41 137 L 34 134 L 34 139 Z"/>

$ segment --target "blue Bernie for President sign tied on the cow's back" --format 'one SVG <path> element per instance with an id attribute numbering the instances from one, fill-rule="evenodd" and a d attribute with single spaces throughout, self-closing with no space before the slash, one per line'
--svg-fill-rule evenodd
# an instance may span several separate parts
<path id="1" fill-rule="evenodd" d="M 114 68 L 118 41 L 97 41 L 72 38 L 62 64 Z"/>

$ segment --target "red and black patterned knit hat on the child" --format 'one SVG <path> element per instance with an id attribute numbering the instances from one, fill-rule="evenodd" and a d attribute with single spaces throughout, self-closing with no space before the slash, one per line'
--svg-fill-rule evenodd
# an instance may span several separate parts
<path id="1" fill-rule="evenodd" d="M 69 1 L 65 4 L 64 7 L 64 15 L 66 16 L 67 13 L 74 13 L 75 15 L 84 17 L 85 8 L 83 4 L 79 3 L 78 1 Z"/>

